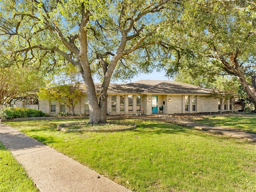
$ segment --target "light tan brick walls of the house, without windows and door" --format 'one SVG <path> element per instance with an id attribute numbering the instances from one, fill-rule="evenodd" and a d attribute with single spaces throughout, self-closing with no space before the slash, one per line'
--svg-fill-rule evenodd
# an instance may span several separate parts
<path id="1" fill-rule="evenodd" d="M 113 95 L 113 94 L 112 94 Z M 125 95 L 124 112 L 120 112 L 120 94 L 116 96 L 116 111 L 112 112 L 111 96 L 108 95 L 107 112 L 108 114 L 142 114 L 142 111 L 136 110 L 136 96 L 133 95 L 133 111 L 128 111 L 128 95 Z M 144 108 L 145 115 L 152 114 L 152 95 L 140 95 L 141 109 Z M 170 99 L 170 101 L 169 101 Z M 164 104 L 163 104 L 164 102 Z M 158 112 L 159 107 L 164 106 L 164 114 L 177 114 L 177 113 L 196 113 L 196 112 L 218 112 L 218 100 L 208 96 L 196 96 L 196 111 L 192 111 L 192 96 L 189 96 L 189 111 L 185 111 L 185 95 L 158 95 Z M 39 100 L 38 108 L 44 113 L 58 114 L 60 112 L 60 103 L 56 102 L 56 112 L 50 112 L 50 101 Z M 229 110 L 229 100 L 227 102 L 227 110 Z M 66 106 L 66 112 L 72 111 Z M 84 114 L 84 95 L 75 106 L 75 114 Z"/>

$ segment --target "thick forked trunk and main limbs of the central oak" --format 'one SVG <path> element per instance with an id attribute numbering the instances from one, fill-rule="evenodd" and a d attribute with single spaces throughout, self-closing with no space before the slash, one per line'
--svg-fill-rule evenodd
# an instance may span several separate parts
<path id="1" fill-rule="evenodd" d="M 94 82 L 92 80 L 92 74 L 90 69 L 90 64 L 88 62 L 87 53 L 88 53 L 88 43 L 87 43 L 87 29 L 86 24 L 89 21 L 90 12 L 86 10 L 84 4 L 82 4 L 82 21 L 79 28 L 79 41 L 80 41 L 80 52 L 79 52 L 79 62 L 78 66 L 81 66 L 80 73 L 84 79 L 87 96 L 88 96 L 88 105 L 90 112 L 90 121 L 91 124 L 100 124 L 106 123 L 106 113 L 107 113 L 107 90 L 110 84 L 110 78 L 113 74 L 114 68 L 118 60 L 124 55 L 123 50 L 126 45 L 126 33 L 122 30 L 122 41 L 118 47 L 116 54 L 113 56 L 110 65 L 103 60 L 103 57 L 97 53 L 97 58 L 103 67 L 104 80 L 102 82 L 102 87 L 100 90 L 99 101 L 96 97 Z"/>

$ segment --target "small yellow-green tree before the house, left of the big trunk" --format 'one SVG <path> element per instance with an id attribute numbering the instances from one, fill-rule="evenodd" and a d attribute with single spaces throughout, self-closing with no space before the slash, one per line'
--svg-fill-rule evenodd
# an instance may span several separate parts
<path id="1" fill-rule="evenodd" d="M 80 98 L 81 91 L 79 90 L 80 83 L 70 85 L 60 85 L 52 88 L 40 88 L 38 96 L 41 100 L 50 99 L 64 103 L 72 114 L 75 114 L 75 106 Z"/>

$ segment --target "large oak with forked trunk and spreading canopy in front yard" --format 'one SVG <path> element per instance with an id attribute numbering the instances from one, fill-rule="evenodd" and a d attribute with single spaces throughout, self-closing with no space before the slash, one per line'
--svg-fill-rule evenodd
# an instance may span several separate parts
<path id="1" fill-rule="evenodd" d="M 111 77 L 149 72 L 175 52 L 165 27 L 178 18 L 174 0 L 6 0 L 0 31 L 4 61 L 29 62 L 50 70 L 65 62 L 78 68 L 86 84 L 90 123 L 106 123 Z M 162 48 L 172 50 L 162 54 Z M 151 65 L 154 61 L 155 65 Z M 99 101 L 92 76 L 102 80 Z"/>

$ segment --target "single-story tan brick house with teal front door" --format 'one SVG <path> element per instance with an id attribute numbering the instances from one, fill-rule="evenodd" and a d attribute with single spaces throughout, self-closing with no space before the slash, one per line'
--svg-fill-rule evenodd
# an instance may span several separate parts
<path id="1" fill-rule="evenodd" d="M 95 83 L 95 88 L 99 96 L 101 84 Z M 80 84 L 79 89 L 82 93 L 75 106 L 75 114 L 89 114 L 84 83 Z M 208 88 L 166 80 L 139 80 L 128 84 L 110 84 L 107 102 L 107 113 L 111 115 L 152 115 L 159 113 L 161 106 L 163 106 L 163 114 L 218 112 L 220 107 L 223 112 L 233 111 L 233 98 L 226 100 L 224 105 L 220 106 L 219 100 L 211 96 L 211 90 Z M 65 104 L 55 100 L 38 100 L 38 105 L 33 105 L 33 108 L 50 115 L 59 112 L 72 113 Z"/>

